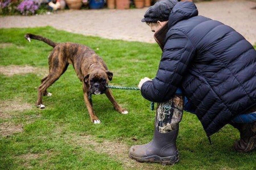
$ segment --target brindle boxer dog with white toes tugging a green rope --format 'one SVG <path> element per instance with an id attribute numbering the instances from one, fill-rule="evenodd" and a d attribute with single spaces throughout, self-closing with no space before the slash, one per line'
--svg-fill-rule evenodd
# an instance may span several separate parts
<path id="1" fill-rule="evenodd" d="M 40 35 L 26 34 L 25 38 L 44 41 L 53 47 L 49 54 L 49 74 L 41 80 L 38 87 L 38 98 L 36 106 L 45 108 L 42 103 L 42 96 L 48 95 L 46 89 L 52 85 L 67 70 L 69 64 L 72 64 L 80 81 L 83 82 L 84 102 L 88 109 L 90 119 L 93 123 L 100 123 L 98 117 L 92 109 L 92 100 L 88 98 L 91 94 L 100 95 L 105 93 L 115 110 L 121 114 L 127 114 L 127 110 L 121 108 L 115 101 L 110 89 L 106 88 L 108 81 L 112 80 L 113 73 L 108 71 L 104 61 L 89 47 L 75 43 L 55 43 Z"/>

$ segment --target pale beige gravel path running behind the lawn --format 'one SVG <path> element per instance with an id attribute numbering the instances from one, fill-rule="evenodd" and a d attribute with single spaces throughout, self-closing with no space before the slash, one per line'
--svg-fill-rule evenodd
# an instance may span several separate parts
<path id="1" fill-rule="evenodd" d="M 196 3 L 199 14 L 233 27 L 256 43 L 256 2 L 226 0 Z M 109 39 L 154 42 L 150 28 L 141 22 L 144 9 L 59 11 L 50 15 L 0 17 L 0 28 L 52 26 L 83 35 Z"/>

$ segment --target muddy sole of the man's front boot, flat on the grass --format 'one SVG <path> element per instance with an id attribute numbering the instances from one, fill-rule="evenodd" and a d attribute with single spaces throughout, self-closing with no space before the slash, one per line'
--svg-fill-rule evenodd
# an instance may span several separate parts
<path id="1" fill-rule="evenodd" d="M 132 159 L 135 159 L 138 162 L 146 162 L 146 163 L 161 163 L 162 165 L 172 165 L 176 162 L 179 161 L 179 157 L 177 157 L 175 160 L 173 160 L 174 156 L 168 156 L 168 157 L 160 157 L 157 155 L 152 155 L 152 156 L 148 156 L 148 157 L 135 157 L 132 156 L 131 154 L 129 154 L 129 157 Z"/>

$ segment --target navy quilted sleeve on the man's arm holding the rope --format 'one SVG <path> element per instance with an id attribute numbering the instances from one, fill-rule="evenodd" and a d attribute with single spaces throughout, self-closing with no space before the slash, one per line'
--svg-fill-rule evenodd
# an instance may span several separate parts
<path id="1" fill-rule="evenodd" d="M 141 87 L 141 95 L 152 102 L 169 100 L 181 86 L 182 76 L 195 55 L 195 48 L 187 36 L 178 30 L 170 30 L 156 73 L 152 81 Z"/>

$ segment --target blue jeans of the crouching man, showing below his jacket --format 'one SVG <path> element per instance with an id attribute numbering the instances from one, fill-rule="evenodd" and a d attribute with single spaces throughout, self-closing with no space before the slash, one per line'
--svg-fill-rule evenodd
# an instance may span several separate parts
<path id="1" fill-rule="evenodd" d="M 181 89 L 177 89 L 176 94 L 182 94 Z M 195 114 L 195 110 L 191 107 L 191 102 L 188 101 L 187 97 L 184 97 L 184 110 Z M 256 111 L 248 114 L 241 114 L 236 116 L 233 120 L 234 123 L 251 123 L 256 121 Z"/>

